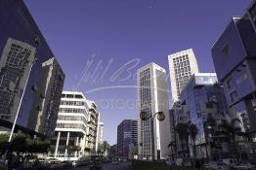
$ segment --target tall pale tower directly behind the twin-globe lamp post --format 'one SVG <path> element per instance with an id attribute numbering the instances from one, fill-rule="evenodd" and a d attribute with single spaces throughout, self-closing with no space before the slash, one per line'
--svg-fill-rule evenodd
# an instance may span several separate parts
<path id="1" fill-rule="evenodd" d="M 153 128 L 155 159 L 167 157 L 170 153 L 168 144 L 171 140 L 170 121 L 168 115 L 169 102 L 166 90 L 166 71 L 155 63 L 149 63 L 137 71 L 138 86 L 138 145 L 139 158 L 151 159 L 151 128 Z M 159 122 L 153 119 L 140 119 L 140 113 L 147 112 L 154 115 L 163 112 L 165 119 Z"/>

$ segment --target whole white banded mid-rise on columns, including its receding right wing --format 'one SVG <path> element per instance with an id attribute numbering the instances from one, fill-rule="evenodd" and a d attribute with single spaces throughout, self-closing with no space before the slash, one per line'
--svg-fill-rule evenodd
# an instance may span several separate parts
<path id="1" fill-rule="evenodd" d="M 55 137 L 52 139 L 54 157 L 78 159 L 96 153 L 98 120 L 95 118 L 98 114 L 95 114 L 94 105 L 82 92 L 63 91 Z M 71 150 L 74 148 L 75 151 Z"/>

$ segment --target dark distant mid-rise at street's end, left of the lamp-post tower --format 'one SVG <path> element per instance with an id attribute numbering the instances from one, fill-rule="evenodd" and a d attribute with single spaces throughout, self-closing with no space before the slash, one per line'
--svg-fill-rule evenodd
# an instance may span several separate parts
<path id="1" fill-rule="evenodd" d="M 137 120 L 124 119 L 117 126 L 117 155 L 129 158 L 131 146 L 137 146 Z"/>

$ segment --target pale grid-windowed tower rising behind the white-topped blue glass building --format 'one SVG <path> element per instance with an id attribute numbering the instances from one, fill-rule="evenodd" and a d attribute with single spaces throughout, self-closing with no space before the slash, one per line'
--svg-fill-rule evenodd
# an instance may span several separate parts
<path id="1" fill-rule="evenodd" d="M 172 104 L 180 99 L 180 94 L 194 73 L 198 73 L 197 61 L 192 49 L 168 55 Z"/>

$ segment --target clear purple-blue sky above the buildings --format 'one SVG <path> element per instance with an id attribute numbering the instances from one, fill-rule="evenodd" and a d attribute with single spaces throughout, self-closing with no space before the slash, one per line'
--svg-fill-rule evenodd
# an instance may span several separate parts
<path id="1" fill-rule="evenodd" d="M 168 73 L 168 54 L 192 48 L 199 71 L 214 72 L 211 47 L 250 0 L 24 2 L 64 70 L 64 90 L 96 102 L 113 145 L 117 125 L 137 119 L 136 71 L 155 62 Z"/>

